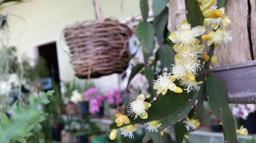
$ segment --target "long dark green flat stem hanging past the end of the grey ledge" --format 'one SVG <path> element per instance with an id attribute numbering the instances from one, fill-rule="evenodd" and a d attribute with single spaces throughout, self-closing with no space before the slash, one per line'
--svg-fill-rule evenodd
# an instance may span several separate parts
<path id="1" fill-rule="evenodd" d="M 212 71 L 207 73 L 207 95 L 211 111 L 222 122 L 222 129 L 227 143 L 237 143 L 235 122 L 229 110 L 227 89 Z"/>

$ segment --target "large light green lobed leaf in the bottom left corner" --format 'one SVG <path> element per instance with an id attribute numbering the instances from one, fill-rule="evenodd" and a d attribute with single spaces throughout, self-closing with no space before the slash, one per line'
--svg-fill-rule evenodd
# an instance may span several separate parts
<path id="1" fill-rule="evenodd" d="M 42 113 L 43 111 L 38 109 L 38 105 L 49 103 L 47 98 L 53 92 L 40 92 L 39 99 L 30 96 L 30 104 L 28 106 L 15 102 L 12 107 L 15 114 L 11 120 L 4 113 L 0 112 L 0 118 L 2 120 L 0 124 L 0 143 L 9 143 L 11 139 L 13 141 L 24 141 L 25 137 L 31 136 L 32 133 L 30 131 L 34 128 L 35 124 L 47 115 L 47 113 Z"/>

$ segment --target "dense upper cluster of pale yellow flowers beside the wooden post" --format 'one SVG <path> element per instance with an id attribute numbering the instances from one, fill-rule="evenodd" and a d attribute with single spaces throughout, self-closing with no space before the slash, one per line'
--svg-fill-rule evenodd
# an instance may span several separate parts
<path id="1" fill-rule="evenodd" d="M 202 3 L 200 10 L 204 16 L 203 25 L 192 28 L 186 20 L 182 20 L 181 25 L 177 26 L 177 31 L 171 32 L 168 36 L 168 38 L 175 43 L 173 50 L 177 52 L 177 54 L 174 57 L 175 64 L 171 68 L 171 72 L 163 72 L 163 74 L 158 76 L 158 79 L 153 82 L 153 88 L 160 91 L 162 95 L 166 93 L 167 89 L 174 92 L 176 91 L 177 86 L 171 84 L 171 82 L 174 82 L 176 79 L 180 80 L 180 85 L 184 87 L 183 90 L 187 91 L 187 93 L 200 90 L 199 85 L 203 82 L 197 82 L 195 76 L 203 67 L 200 58 L 203 58 L 203 61 L 206 62 L 209 56 L 203 54 L 202 51 L 205 45 L 200 45 L 200 40 L 196 37 L 202 35 L 202 41 L 208 39 L 207 45 L 214 43 L 215 46 L 220 43 L 227 44 L 232 40 L 231 32 L 226 32 L 224 29 L 227 27 L 227 24 L 231 24 L 231 20 L 225 15 L 225 7 L 216 9 L 216 6 L 212 6 L 214 0 L 198 0 L 198 2 Z M 218 28 L 220 24 L 224 27 L 223 29 Z M 209 31 L 207 35 L 203 35 L 206 28 L 211 26 L 216 31 Z M 217 61 L 217 59 L 213 60 L 214 63 L 215 61 Z M 181 92 L 182 90 L 179 89 L 178 93 Z"/>

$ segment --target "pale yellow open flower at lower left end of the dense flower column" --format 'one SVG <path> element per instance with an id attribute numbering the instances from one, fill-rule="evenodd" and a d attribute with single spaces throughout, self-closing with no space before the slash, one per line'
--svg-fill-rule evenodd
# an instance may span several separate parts
<path id="1" fill-rule="evenodd" d="M 163 72 L 162 75 L 157 75 L 157 80 L 154 80 L 153 82 L 153 89 L 158 89 L 161 91 L 162 95 L 165 95 L 167 90 L 171 90 L 176 93 L 182 93 L 180 91 L 180 87 L 177 87 L 175 83 L 175 78 L 173 76 L 169 75 L 167 72 Z"/>

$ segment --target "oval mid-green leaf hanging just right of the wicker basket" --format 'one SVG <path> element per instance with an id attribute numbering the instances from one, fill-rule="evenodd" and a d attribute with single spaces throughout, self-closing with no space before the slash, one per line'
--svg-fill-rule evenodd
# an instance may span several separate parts
<path id="1" fill-rule="evenodd" d="M 152 24 L 145 21 L 139 22 L 139 24 L 136 26 L 135 33 L 144 52 L 149 53 L 155 35 L 155 30 Z"/>

